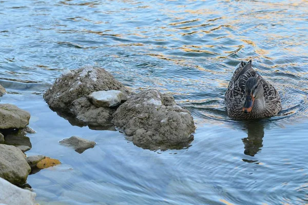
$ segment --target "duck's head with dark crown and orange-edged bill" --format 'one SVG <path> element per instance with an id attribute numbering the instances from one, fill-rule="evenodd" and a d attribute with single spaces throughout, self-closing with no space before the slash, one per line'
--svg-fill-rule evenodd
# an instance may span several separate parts
<path id="1" fill-rule="evenodd" d="M 263 86 L 257 77 L 250 77 L 247 79 L 245 84 L 245 96 L 246 100 L 243 107 L 243 112 L 251 112 L 255 100 L 263 99 Z"/>

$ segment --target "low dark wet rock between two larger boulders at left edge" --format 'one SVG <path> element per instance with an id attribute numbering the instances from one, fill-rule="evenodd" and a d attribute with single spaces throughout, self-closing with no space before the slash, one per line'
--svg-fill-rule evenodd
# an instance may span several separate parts
<path id="1" fill-rule="evenodd" d="M 18 133 L 8 134 L 5 136 L 4 140 L 6 145 L 13 145 L 16 148 L 22 150 L 23 152 L 27 152 L 32 148 L 30 138 Z"/>

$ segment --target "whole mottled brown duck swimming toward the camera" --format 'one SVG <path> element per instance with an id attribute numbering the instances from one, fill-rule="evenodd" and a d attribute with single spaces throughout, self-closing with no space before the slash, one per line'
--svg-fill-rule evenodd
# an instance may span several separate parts
<path id="1" fill-rule="evenodd" d="M 270 83 L 243 61 L 233 72 L 225 93 L 228 116 L 234 119 L 259 119 L 277 115 L 281 99 Z"/>

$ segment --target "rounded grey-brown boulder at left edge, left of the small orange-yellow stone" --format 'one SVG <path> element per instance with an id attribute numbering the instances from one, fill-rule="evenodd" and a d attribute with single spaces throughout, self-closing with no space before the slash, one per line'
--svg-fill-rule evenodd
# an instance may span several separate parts
<path id="1" fill-rule="evenodd" d="M 0 177 L 14 185 L 23 185 L 31 168 L 25 154 L 18 148 L 10 145 L 0 145 Z"/>

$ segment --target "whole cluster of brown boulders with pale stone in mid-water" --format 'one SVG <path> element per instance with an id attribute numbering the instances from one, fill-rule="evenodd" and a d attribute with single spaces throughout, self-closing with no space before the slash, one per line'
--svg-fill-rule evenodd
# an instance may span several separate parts
<path id="1" fill-rule="evenodd" d="M 102 68 L 63 73 L 44 98 L 58 114 L 69 113 L 89 127 L 114 125 L 147 149 L 188 144 L 195 131 L 190 112 L 171 95 L 153 89 L 135 94 Z"/>

